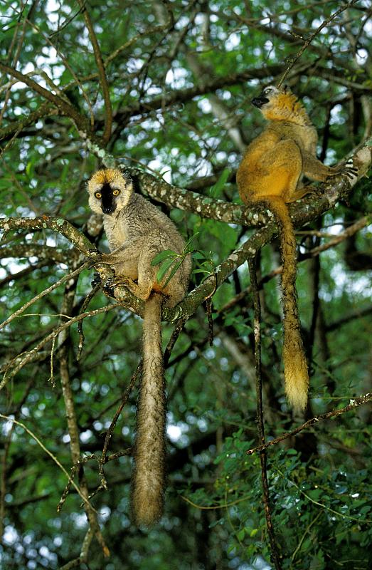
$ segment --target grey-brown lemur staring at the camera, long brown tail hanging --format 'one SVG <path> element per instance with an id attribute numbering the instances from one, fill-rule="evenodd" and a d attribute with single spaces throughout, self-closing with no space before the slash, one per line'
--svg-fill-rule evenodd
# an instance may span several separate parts
<path id="1" fill-rule="evenodd" d="M 166 397 L 161 351 L 161 308 L 173 307 L 187 291 L 188 255 L 164 286 L 156 281 L 152 259 L 166 249 L 181 254 L 185 242 L 171 220 L 133 192 L 131 177 L 120 170 L 99 170 L 88 182 L 89 205 L 103 214 L 110 264 L 122 282 L 145 301 L 142 381 L 137 404 L 137 430 L 132 473 L 132 519 L 137 525 L 159 520 L 164 506 Z"/>

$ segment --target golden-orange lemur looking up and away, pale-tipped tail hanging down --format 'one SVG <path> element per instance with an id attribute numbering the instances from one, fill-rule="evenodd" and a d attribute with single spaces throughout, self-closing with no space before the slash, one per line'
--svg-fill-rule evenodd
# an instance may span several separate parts
<path id="1" fill-rule="evenodd" d="M 343 172 L 352 174 L 354 169 L 332 168 L 317 160 L 317 130 L 287 88 L 269 86 L 252 103 L 269 123 L 248 146 L 236 180 L 243 202 L 264 202 L 280 224 L 285 393 L 299 411 L 307 405 L 309 375 L 296 301 L 296 239 L 286 204 L 313 190 L 302 185 L 302 175 L 324 182 Z"/>

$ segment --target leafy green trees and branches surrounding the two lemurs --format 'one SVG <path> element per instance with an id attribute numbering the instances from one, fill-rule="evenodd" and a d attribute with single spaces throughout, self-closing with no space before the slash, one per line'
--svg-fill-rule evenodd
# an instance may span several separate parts
<path id="1" fill-rule="evenodd" d="M 371 392 L 371 2 L 22 0 L 0 11 L 4 568 L 370 568 L 371 409 L 359 405 Z M 250 99 L 283 76 L 321 160 L 351 153 L 359 168 L 353 187 L 340 178 L 291 207 L 307 418 L 283 394 L 275 222 L 245 212 L 235 185 L 262 128 Z M 141 305 L 90 294 L 84 264 L 105 249 L 85 182 L 118 161 L 195 250 L 184 319 L 164 323 L 166 514 L 142 530 L 128 516 L 141 330 L 129 306 Z M 264 437 L 260 379 L 273 445 L 247 455 Z"/>

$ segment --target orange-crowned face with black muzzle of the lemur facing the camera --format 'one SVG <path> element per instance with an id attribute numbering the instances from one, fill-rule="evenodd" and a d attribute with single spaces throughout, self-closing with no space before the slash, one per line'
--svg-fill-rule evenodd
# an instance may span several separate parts
<path id="1" fill-rule="evenodd" d="M 92 211 L 110 216 L 127 205 L 133 192 L 132 179 L 118 170 L 98 170 L 89 180 L 87 190 Z"/>

